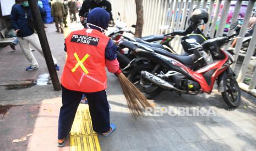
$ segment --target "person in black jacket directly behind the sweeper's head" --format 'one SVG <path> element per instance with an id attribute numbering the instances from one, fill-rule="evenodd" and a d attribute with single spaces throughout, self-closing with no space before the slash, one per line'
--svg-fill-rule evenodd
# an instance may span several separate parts
<path id="1" fill-rule="evenodd" d="M 110 20 L 113 20 L 110 2 L 108 2 L 107 0 L 85 0 L 79 11 L 80 21 L 82 22 L 85 19 L 85 13 L 89 13 L 92 9 L 96 7 L 105 9 L 108 13 L 110 13 Z"/>

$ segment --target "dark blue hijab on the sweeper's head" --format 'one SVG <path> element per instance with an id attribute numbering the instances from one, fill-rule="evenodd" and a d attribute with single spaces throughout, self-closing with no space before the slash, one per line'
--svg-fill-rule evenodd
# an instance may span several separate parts
<path id="1" fill-rule="evenodd" d="M 110 14 L 103 8 L 94 8 L 88 14 L 87 23 L 99 26 L 104 30 L 107 29 L 108 22 L 110 22 Z M 100 28 L 95 26 L 90 26 L 90 28 L 101 32 Z"/>

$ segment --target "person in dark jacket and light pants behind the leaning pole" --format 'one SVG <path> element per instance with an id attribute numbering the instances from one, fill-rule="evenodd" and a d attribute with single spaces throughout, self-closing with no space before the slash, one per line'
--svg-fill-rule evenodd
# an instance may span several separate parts
<path id="1" fill-rule="evenodd" d="M 39 7 L 39 10 L 41 15 L 45 15 L 45 11 L 43 11 L 41 7 Z M 17 34 L 20 47 L 23 50 L 26 59 L 28 59 L 30 62 L 30 66 L 26 68 L 26 71 L 39 68 L 39 64 L 37 63 L 35 56 L 31 53 L 30 44 L 35 47 L 35 49 L 39 51 L 42 56 L 43 53 L 39 38 L 35 33 L 36 28 L 34 27 L 28 0 L 21 0 L 21 4 L 14 5 L 10 18 L 15 33 Z M 53 56 L 52 58 L 53 62 L 55 63 L 56 70 L 59 70 L 57 60 Z"/>

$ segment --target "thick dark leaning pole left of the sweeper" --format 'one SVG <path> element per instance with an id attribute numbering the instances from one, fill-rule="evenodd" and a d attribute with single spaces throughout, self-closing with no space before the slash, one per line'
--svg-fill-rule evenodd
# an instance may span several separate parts
<path id="1" fill-rule="evenodd" d="M 58 74 L 56 72 L 55 65 L 53 63 L 51 50 L 45 34 L 45 28 L 43 27 L 43 22 L 41 19 L 41 14 L 40 14 L 37 2 L 36 0 L 28 0 L 28 2 L 29 2 L 32 18 L 34 20 L 34 24 L 36 27 L 37 35 L 39 37 L 40 44 L 42 47 L 43 56 L 45 56 L 48 72 L 50 73 L 53 89 L 56 91 L 61 90 L 61 85 L 59 84 Z"/>

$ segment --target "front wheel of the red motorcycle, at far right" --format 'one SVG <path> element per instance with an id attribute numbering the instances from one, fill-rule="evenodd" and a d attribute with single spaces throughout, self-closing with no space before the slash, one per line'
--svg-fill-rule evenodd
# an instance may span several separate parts
<path id="1" fill-rule="evenodd" d="M 228 77 L 226 90 L 221 93 L 223 100 L 231 108 L 236 108 L 241 102 L 241 91 L 235 77 Z"/>

